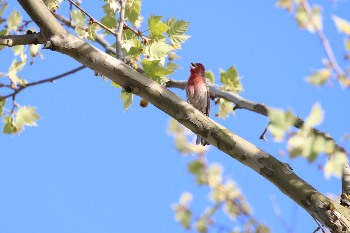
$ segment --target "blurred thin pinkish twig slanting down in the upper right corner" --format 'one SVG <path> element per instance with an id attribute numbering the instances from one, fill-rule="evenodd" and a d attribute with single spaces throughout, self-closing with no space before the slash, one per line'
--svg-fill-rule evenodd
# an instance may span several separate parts
<path id="1" fill-rule="evenodd" d="M 342 68 L 339 67 L 339 65 L 337 63 L 337 60 L 334 57 L 334 53 L 332 51 L 332 48 L 331 48 L 331 46 L 329 44 L 329 41 L 328 41 L 327 37 L 324 35 L 323 31 L 315 25 L 315 22 L 313 20 L 313 13 L 312 13 L 312 10 L 310 8 L 310 5 L 309 5 L 308 1 L 307 0 L 303 0 L 303 1 L 301 1 L 300 4 L 305 9 L 306 14 L 309 17 L 310 23 L 316 29 L 317 35 L 321 39 L 321 42 L 322 42 L 323 47 L 324 47 L 324 50 L 327 53 L 327 56 L 329 58 L 329 61 L 330 61 L 331 65 L 332 65 L 332 67 L 337 72 L 339 77 L 344 77 L 344 71 L 342 70 Z"/>

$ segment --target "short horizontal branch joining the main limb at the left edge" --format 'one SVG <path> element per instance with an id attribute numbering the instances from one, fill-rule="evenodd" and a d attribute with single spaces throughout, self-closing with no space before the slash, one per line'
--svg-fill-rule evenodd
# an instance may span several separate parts
<path id="1" fill-rule="evenodd" d="M 28 31 L 29 32 L 29 31 Z M 28 33 L 26 35 L 7 35 L 0 36 L 0 45 L 12 47 L 15 45 L 24 44 L 44 44 L 45 39 L 42 38 L 41 33 Z"/>

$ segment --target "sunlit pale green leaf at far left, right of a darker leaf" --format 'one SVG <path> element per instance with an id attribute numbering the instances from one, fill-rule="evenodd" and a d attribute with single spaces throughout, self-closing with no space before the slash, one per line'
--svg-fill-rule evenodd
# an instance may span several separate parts
<path id="1" fill-rule="evenodd" d="M 35 121 L 40 120 L 41 117 L 35 113 L 35 107 L 20 107 L 16 113 L 16 128 L 21 131 L 24 126 L 37 126 Z"/>

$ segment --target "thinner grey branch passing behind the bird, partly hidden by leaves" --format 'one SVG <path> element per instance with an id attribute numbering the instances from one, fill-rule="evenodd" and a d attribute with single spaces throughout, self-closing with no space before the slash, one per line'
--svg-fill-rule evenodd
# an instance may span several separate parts
<path id="1" fill-rule="evenodd" d="M 166 87 L 176 87 L 176 88 L 180 88 L 180 89 L 185 89 L 187 81 L 178 81 L 178 80 L 170 80 L 166 83 L 164 83 L 164 85 Z M 213 84 L 208 83 L 209 86 L 209 91 L 210 91 L 210 97 L 211 98 L 215 98 L 215 97 L 219 97 L 219 98 L 223 98 L 225 100 L 231 101 L 233 103 L 236 104 L 235 109 L 238 108 L 244 108 L 256 113 L 259 113 L 261 115 L 267 116 L 268 117 L 268 112 L 269 111 L 278 111 L 275 110 L 271 107 L 268 107 L 267 105 L 263 104 L 263 103 L 255 103 L 253 101 L 244 99 L 242 96 L 237 95 L 234 92 L 230 92 L 230 91 L 226 91 L 226 90 L 221 90 L 217 87 L 215 87 Z M 301 119 L 300 117 L 296 117 L 294 116 L 294 127 L 300 129 L 303 125 L 304 125 L 304 121 L 303 119 Z M 328 134 L 328 133 L 324 133 L 320 130 L 314 129 L 314 134 L 315 135 L 320 135 L 322 137 L 324 137 L 326 140 L 331 141 L 334 144 L 335 150 L 337 151 L 344 151 L 344 148 L 339 146 L 336 141 Z"/>

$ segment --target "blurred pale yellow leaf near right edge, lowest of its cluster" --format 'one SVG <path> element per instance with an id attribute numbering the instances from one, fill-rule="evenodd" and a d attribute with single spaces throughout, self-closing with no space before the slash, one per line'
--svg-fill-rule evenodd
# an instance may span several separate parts
<path id="1" fill-rule="evenodd" d="M 340 177 L 344 164 L 348 163 L 345 152 L 336 151 L 324 166 L 324 176 L 329 179 L 332 175 Z"/>

